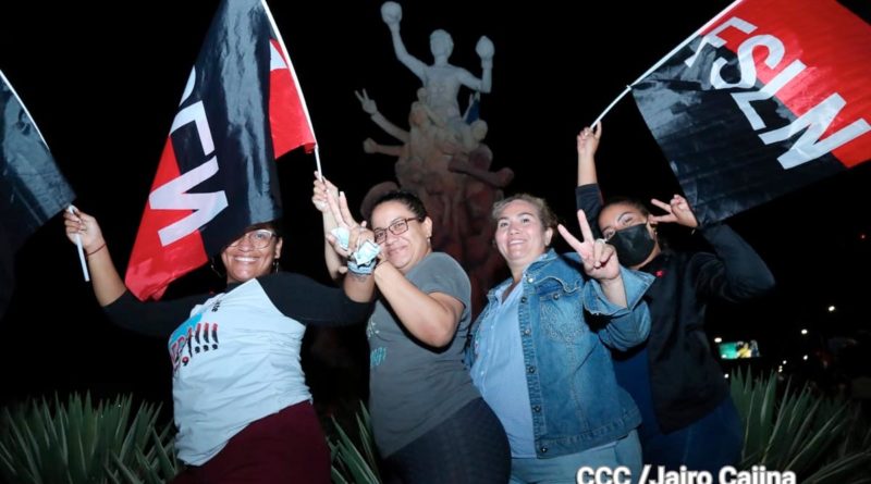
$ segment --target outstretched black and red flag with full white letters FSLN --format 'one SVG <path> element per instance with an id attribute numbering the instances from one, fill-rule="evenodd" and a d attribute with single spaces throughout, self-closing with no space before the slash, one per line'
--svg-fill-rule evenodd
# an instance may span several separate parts
<path id="1" fill-rule="evenodd" d="M 871 159 L 869 62 L 871 25 L 838 1 L 745 0 L 633 95 L 713 222 Z"/>

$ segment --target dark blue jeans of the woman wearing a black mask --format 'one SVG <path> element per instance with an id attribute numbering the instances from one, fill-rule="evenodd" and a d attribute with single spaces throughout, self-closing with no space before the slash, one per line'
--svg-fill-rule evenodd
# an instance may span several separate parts
<path id="1" fill-rule="evenodd" d="M 643 425 L 643 424 L 641 424 Z M 677 470 L 720 472 L 741 457 L 744 425 L 731 397 L 701 419 L 668 434 L 654 433 L 641 443 L 645 463 Z"/>

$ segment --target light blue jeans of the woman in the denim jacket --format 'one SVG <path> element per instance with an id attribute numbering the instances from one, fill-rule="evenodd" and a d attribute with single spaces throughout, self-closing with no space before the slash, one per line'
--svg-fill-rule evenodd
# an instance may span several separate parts
<path id="1" fill-rule="evenodd" d="M 510 484 L 576 484 L 578 469 L 625 466 L 633 477 L 641 475 L 641 445 L 636 431 L 623 438 L 582 452 L 550 459 L 512 459 Z"/>

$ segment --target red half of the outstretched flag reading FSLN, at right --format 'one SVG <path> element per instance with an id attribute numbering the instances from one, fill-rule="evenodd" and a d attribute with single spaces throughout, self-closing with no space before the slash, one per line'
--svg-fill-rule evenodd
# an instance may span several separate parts
<path id="1" fill-rule="evenodd" d="M 766 48 L 753 49 L 757 78 L 768 84 L 793 61 L 806 69 L 781 88 L 776 97 L 796 116 L 823 102 L 833 94 L 841 95 L 846 106 L 820 139 L 848 126 L 856 120 L 871 122 L 871 88 L 868 65 L 871 61 L 871 26 L 835 0 L 755 0 L 736 5 L 712 25 L 714 30 L 732 17 L 739 17 L 757 28 L 747 34 L 726 28 L 717 34 L 733 52 L 753 36 L 771 35 L 783 42 L 783 59 L 773 67 L 764 60 Z M 769 126 L 776 128 L 780 126 Z M 834 151 L 844 165 L 855 166 L 869 159 L 871 134 L 864 134 Z"/>

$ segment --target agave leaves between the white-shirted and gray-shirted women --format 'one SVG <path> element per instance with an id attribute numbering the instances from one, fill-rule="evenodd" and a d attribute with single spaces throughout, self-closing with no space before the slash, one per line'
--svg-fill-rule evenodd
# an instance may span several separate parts
<path id="1" fill-rule="evenodd" d="M 372 425 L 369 411 L 360 402 L 356 414 L 358 443 L 348 436 L 342 425 L 332 419 L 335 434 L 328 440 L 332 456 L 332 481 L 336 484 L 380 484 L 378 454 L 372 439 Z"/>

